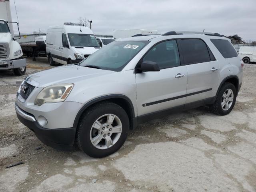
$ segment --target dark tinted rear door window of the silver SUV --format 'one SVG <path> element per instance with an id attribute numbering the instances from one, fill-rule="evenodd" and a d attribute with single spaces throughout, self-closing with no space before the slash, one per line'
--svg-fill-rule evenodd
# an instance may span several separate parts
<path id="1" fill-rule="evenodd" d="M 200 39 L 181 39 L 180 46 L 184 57 L 184 64 L 196 64 L 211 61 L 208 48 Z"/>

